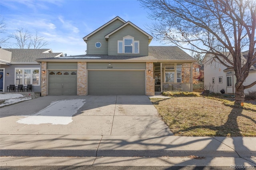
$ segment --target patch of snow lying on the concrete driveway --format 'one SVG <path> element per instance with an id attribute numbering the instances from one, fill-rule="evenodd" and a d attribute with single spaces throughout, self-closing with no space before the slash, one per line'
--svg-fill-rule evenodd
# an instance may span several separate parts
<path id="1" fill-rule="evenodd" d="M 51 123 L 53 125 L 68 125 L 72 122 L 72 115 L 84 105 L 84 99 L 54 101 L 36 114 L 22 118 L 17 123 L 39 125 Z"/>

